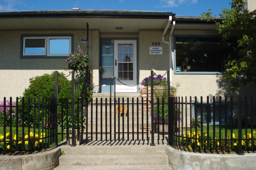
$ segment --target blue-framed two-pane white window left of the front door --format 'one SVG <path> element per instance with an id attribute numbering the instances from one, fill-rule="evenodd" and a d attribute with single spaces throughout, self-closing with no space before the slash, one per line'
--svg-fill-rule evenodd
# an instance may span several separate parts
<path id="1" fill-rule="evenodd" d="M 72 36 L 22 36 L 22 57 L 67 57 Z"/>

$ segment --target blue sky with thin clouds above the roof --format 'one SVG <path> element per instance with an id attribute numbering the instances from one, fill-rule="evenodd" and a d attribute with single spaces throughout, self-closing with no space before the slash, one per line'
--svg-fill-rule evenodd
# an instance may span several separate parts
<path id="1" fill-rule="evenodd" d="M 122 9 L 122 10 L 153 10 L 173 12 L 176 15 L 200 16 L 207 8 L 214 15 L 221 8 L 230 8 L 231 0 L 74 0 L 74 1 L 31 1 L 31 0 L 0 0 L 0 11 L 13 10 L 50 10 L 50 9 Z"/>

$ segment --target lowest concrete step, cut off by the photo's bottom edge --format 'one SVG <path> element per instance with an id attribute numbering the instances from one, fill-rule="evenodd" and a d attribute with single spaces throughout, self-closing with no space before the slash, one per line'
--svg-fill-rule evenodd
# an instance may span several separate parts
<path id="1" fill-rule="evenodd" d="M 171 170 L 169 165 L 60 165 L 54 168 L 56 170 L 123 170 L 123 169 L 140 169 L 140 170 L 150 170 L 150 169 L 163 169 Z"/>

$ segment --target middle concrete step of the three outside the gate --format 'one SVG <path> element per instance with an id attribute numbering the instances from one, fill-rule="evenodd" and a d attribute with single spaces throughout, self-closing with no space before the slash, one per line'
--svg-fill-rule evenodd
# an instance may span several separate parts
<path id="1" fill-rule="evenodd" d="M 59 165 L 167 165 L 166 154 L 62 155 Z"/>

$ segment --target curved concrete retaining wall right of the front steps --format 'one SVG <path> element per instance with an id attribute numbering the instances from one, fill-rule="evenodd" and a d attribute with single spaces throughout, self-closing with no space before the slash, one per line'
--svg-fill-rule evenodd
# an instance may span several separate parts
<path id="1" fill-rule="evenodd" d="M 166 148 L 169 165 L 174 170 L 183 169 L 255 169 L 256 153 L 237 154 L 204 154 Z"/>

